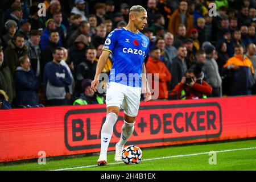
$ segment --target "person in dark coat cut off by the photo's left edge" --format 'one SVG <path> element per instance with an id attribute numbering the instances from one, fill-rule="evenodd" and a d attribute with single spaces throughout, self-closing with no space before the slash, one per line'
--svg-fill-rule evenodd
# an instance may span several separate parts
<path id="1" fill-rule="evenodd" d="M 15 85 L 13 81 L 13 73 L 7 66 L 4 60 L 3 49 L 0 47 L 0 89 L 4 90 L 9 96 L 9 101 L 12 104 L 15 98 Z"/>

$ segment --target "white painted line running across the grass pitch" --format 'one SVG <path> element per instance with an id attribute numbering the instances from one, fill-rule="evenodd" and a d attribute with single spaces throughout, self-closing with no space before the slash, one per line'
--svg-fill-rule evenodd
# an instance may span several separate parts
<path id="1" fill-rule="evenodd" d="M 250 147 L 250 148 L 237 148 L 237 149 L 230 149 L 230 150 L 221 150 L 221 151 L 210 151 L 210 152 L 232 152 L 232 151 L 240 151 L 240 150 L 252 150 L 256 149 L 256 147 Z M 201 152 L 201 153 L 195 153 L 195 154 L 184 154 L 184 155 L 172 155 L 172 156 L 166 156 L 162 158 L 151 158 L 151 159 L 143 159 L 143 161 L 148 161 L 148 160 L 159 160 L 159 159 L 170 159 L 170 158 L 182 158 L 185 156 L 194 156 L 194 155 L 204 155 L 204 154 L 209 154 L 209 152 Z M 109 165 L 114 165 L 114 164 L 122 164 L 123 162 L 118 162 L 118 163 L 108 163 Z M 90 166 L 80 166 L 80 167 L 71 167 L 71 168 L 62 168 L 62 169 L 55 169 L 52 171 L 65 171 L 65 170 L 72 170 L 72 169 L 81 169 L 81 168 L 89 168 L 89 167 L 97 167 L 98 165 L 90 165 Z"/>

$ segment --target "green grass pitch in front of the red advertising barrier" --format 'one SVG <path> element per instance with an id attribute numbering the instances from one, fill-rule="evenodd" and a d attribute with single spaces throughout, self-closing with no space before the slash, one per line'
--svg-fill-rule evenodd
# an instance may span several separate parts
<path id="1" fill-rule="evenodd" d="M 216 160 L 210 151 L 216 152 Z M 162 171 L 162 170 L 256 170 L 256 140 L 237 142 L 201 143 L 186 146 L 168 146 L 143 149 L 140 164 L 114 162 L 108 155 L 107 166 L 97 166 L 98 156 L 75 156 L 68 159 L 47 159 L 46 164 L 35 162 L 1 163 L 0 170 L 88 170 L 88 171 Z M 209 160 L 216 164 L 209 164 Z"/>

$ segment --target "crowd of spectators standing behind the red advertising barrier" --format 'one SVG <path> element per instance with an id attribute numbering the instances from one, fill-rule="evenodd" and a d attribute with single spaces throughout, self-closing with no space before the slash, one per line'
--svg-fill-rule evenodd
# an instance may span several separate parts
<path id="1" fill-rule="evenodd" d="M 147 10 L 145 63 L 159 74 L 158 99 L 256 94 L 255 0 L 3 0 L 0 107 L 104 103 L 88 86 L 106 36 L 126 26 L 133 5 Z M 112 64 L 110 55 L 102 72 Z"/>

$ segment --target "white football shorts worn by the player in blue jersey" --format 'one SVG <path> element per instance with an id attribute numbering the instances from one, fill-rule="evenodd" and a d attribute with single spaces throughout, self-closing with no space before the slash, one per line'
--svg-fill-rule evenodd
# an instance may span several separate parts
<path id="1" fill-rule="evenodd" d="M 109 82 L 106 90 L 106 107 L 118 106 L 130 117 L 135 117 L 139 111 L 141 88 Z"/>

